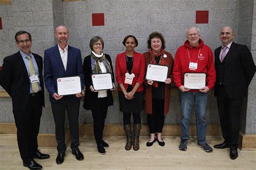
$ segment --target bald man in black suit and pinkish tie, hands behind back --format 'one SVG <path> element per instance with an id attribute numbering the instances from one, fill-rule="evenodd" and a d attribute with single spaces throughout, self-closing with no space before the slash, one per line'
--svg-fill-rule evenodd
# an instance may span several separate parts
<path id="1" fill-rule="evenodd" d="M 238 157 L 238 136 L 242 98 L 247 95 L 248 86 L 255 73 L 252 54 L 246 45 L 233 41 L 235 33 L 230 26 L 220 31 L 222 46 L 215 49 L 216 82 L 220 126 L 224 142 L 215 148 L 230 147 L 230 158 Z"/>

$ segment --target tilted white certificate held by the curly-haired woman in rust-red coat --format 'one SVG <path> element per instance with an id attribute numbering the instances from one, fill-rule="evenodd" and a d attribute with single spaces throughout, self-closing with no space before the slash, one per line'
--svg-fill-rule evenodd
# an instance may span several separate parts
<path id="1" fill-rule="evenodd" d="M 161 65 L 147 65 L 146 80 L 164 82 L 167 79 L 168 67 Z"/>

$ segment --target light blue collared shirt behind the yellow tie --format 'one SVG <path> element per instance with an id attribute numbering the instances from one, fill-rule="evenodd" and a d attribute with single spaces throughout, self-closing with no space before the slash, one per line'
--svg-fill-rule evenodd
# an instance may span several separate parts
<path id="1" fill-rule="evenodd" d="M 25 63 L 25 66 L 26 66 L 26 71 L 28 72 L 28 75 L 30 76 L 30 73 L 29 73 L 29 59 L 26 58 L 27 54 L 23 53 L 21 50 L 19 51 L 19 53 L 21 53 L 21 55 L 22 55 L 22 59 L 23 59 L 23 61 Z M 35 68 L 36 75 L 38 75 L 39 82 L 37 82 L 37 84 L 38 84 L 39 91 L 41 91 L 42 88 L 40 86 L 39 70 L 38 70 L 38 67 L 37 67 L 36 59 L 35 59 L 35 57 L 33 56 L 33 54 L 31 52 L 30 52 L 29 56 L 31 57 L 33 66 Z M 30 82 L 30 79 L 29 79 L 29 82 Z M 30 90 L 29 91 L 30 91 L 29 93 L 33 93 L 31 82 L 30 82 Z"/>

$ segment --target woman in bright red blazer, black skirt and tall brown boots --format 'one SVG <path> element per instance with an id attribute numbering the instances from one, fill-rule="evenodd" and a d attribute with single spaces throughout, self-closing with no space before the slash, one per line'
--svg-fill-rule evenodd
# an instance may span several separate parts
<path id="1" fill-rule="evenodd" d="M 138 46 L 136 37 L 126 36 L 123 44 L 126 51 L 117 55 L 116 80 L 119 107 L 124 115 L 124 130 L 127 137 L 125 150 L 131 150 L 133 144 L 133 150 L 138 151 L 141 129 L 140 111 L 143 109 L 145 60 L 143 54 L 134 51 L 134 48 Z M 131 113 L 133 115 L 133 133 L 131 130 Z"/>

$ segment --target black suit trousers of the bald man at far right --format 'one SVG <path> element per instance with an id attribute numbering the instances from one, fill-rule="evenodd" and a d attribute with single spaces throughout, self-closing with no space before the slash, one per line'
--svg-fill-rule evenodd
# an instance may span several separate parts
<path id="1" fill-rule="evenodd" d="M 236 150 L 240 131 L 242 98 L 228 97 L 225 86 L 222 85 L 218 86 L 217 104 L 225 143 L 229 144 L 231 149 Z"/>

